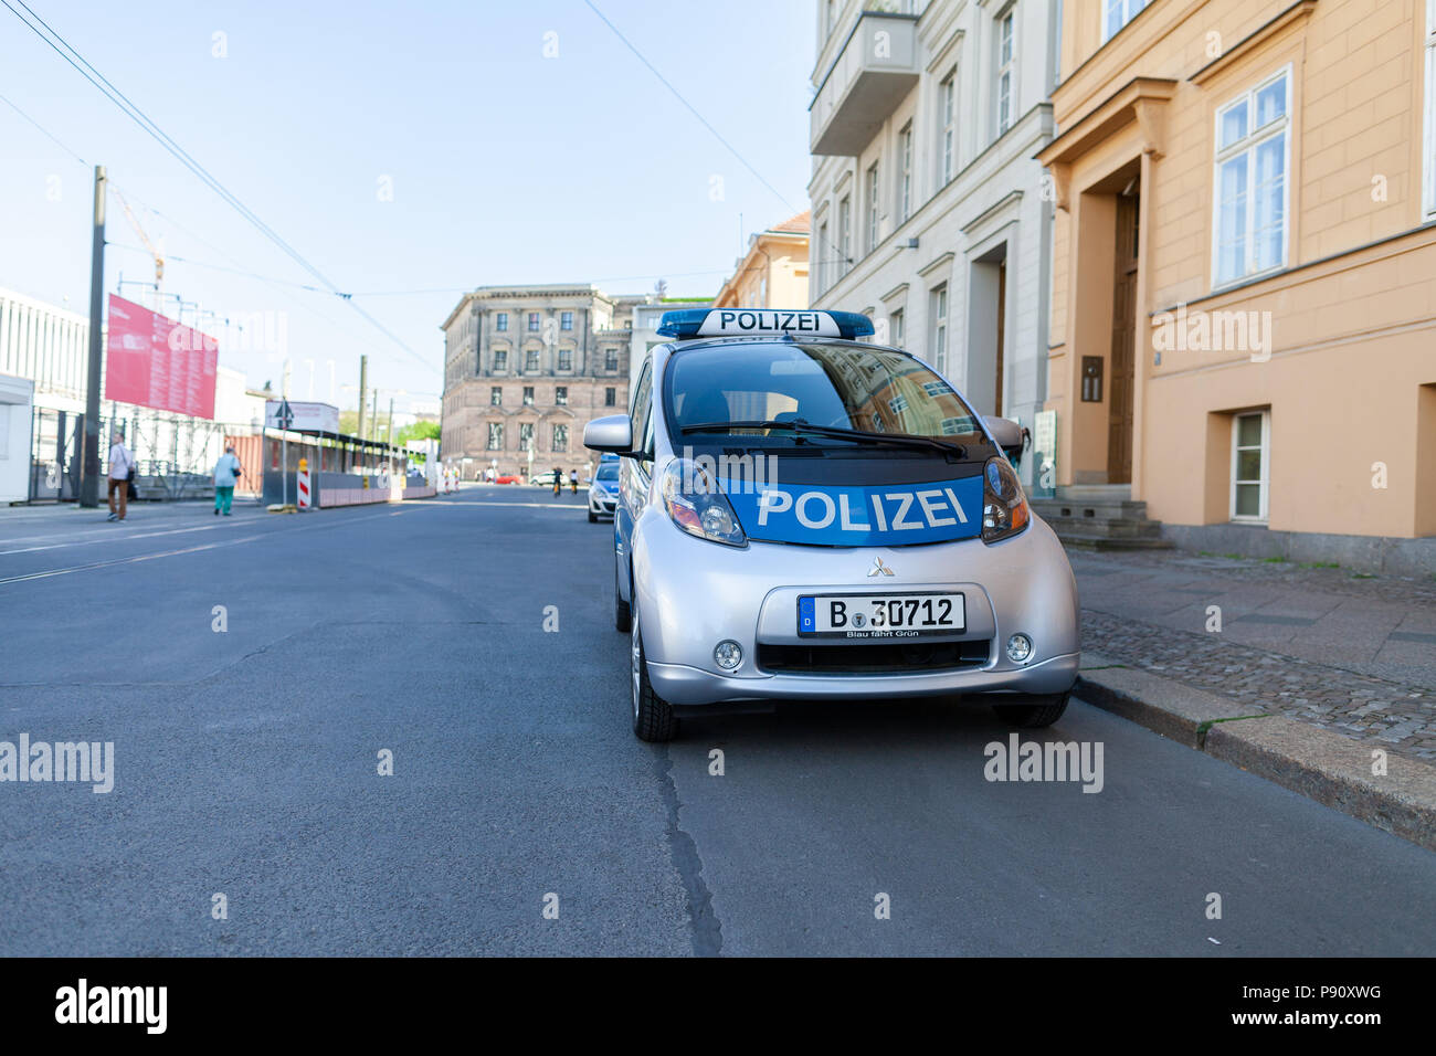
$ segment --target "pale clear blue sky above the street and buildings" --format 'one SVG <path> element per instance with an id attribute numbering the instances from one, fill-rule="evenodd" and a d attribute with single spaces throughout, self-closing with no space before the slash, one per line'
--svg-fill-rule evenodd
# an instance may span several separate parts
<path id="1" fill-rule="evenodd" d="M 740 251 L 740 216 L 745 236 L 807 208 L 810 0 L 596 0 L 778 194 L 583 0 L 26 1 L 415 353 L 333 295 L 200 266 L 313 283 L 0 7 L 0 95 L 106 165 L 171 257 L 167 292 L 220 313 L 286 313 L 297 398 L 304 359 L 325 399 L 325 361 L 353 386 L 360 352 L 372 384 L 437 395 L 438 326 L 460 289 L 592 280 L 629 293 L 666 276 L 671 296 L 714 293 Z M 213 56 L 215 32 L 227 57 Z M 89 170 L 0 103 L 0 286 L 86 313 L 90 197 Z M 119 244 L 106 292 L 121 272 L 152 277 L 113 197 L 108 238 Z M 281 356 L 221 348 L 220 359 L 279 384 Z M 356 394 L 337 398 L 352 407 Z"/>

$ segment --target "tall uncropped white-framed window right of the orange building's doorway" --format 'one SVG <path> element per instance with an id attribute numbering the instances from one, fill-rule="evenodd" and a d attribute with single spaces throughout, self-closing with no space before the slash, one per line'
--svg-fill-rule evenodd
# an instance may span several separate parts
<path id="1" fill-rule="evenodd" d="M 1216 111 L 1215 286 L 1287 263 L 1291 69 Z"/>

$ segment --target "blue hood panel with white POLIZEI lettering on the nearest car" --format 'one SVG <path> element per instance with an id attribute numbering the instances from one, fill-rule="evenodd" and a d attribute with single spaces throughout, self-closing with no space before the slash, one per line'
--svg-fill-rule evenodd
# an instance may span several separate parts
<path id="1" fill-rule="evenodd" d="M 982 477 L 834 487 L 724 484 L 750 539 L 810 546 L 909 546 L 982 532 Z"/>

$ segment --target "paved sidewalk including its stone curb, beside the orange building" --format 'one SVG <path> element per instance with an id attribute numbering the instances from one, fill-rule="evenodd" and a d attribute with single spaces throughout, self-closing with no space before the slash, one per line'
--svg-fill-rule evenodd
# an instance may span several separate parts
<path id="1" fill-rule="evenodd" d="M 1083 700 L 1436 851 L 1436 579 L 1068 556 Z"/>

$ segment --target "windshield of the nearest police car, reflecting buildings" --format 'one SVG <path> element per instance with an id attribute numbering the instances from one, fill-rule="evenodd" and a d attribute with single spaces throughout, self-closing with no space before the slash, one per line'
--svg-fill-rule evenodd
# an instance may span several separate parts
<path id="1" fill-rule="evenodd" d="M 981 441 L 975 434 L 982 432 L 972 409 L 920 361 L 863 345 L 784 341 L 679 351 L 666 388 L 675 447 L 724 435 L 763 437 L 763 447 L 882 443 L 843 431 L 962 444 Z M 727 422 L 741 424 L 722 428 Z"/>

